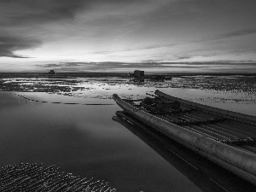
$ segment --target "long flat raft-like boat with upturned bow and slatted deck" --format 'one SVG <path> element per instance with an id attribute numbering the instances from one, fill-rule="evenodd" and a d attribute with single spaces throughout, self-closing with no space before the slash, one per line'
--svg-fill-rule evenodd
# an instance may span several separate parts
<path id="1" fill-rule="evenodd" d="M 256 185 L 256 117 L 166 95 L 140 103 L 113 99 L 133 119 Z M 123 119 L 125 113 L 117 113 Z"/>

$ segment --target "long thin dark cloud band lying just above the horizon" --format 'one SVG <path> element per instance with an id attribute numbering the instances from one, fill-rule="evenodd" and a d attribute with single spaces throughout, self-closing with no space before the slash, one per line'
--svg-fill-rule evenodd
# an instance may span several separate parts
<path id="1" fill-rule="evenodd" d="M 156 61 L 144 61 L 144 62 L 61 62 L 58 64 L 45 63 L 38 65 L 38 70 L 49 71 L 54 69 L 57 73 L 65 72 L 123 72 L 132 73 L 136 69 L 144 70 L 148 73 L 182 73 L 184 70 L 187 72 L 229 72 L 229 68 L 232 67 L 234 73 L 246 73 L 247 70 L 251 70 L 250 73 L 256 73 L 256 62 L 244 61 L 243 63 L 237 63 L 236 61 L 211 61 L 211 62 L 156 62 Z M 253 69 L 254 68 L 254 69 Z M 253 69 L 253 70 L 252 70 Z"/>

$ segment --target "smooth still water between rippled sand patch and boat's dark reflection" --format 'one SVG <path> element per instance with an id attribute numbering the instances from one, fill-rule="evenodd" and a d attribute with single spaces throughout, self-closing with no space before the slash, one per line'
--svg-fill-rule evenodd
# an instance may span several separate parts
<path id="1" fill-rule="evenodd" d="M 0 167 L 20 162 L 56 165 L 75 176 L 108 181 L 119 191 L 201 191 L 112 120 L 119 106 L 51 103 L 65 102 L 65 96 L 39 93 L 26 97 L 48 102 L 27 102 L 18 95 L 0 94 Z M 103 101 L 68 96 L 66 100 Z"/>

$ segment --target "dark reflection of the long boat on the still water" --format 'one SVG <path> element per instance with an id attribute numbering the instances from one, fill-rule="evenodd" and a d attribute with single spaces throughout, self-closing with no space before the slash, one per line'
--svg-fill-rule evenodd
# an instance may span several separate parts
<path id="1" fill-rule="evenodd" d="M 119 113 L 119 112 L 118 112 Z M 127 115 L 127 114 L 125 114 Z M 129 115 L 128 115 L 129 116 Z M 131 116 L 130 116 L 131 117 Z M 205 158 L 195 154 L 179 143 L 148 129 L 135 119 L 113 116 L 113 120 L 124 125 L 134 135 L 147 143 L 179 172 L 189 178 L 202 191 L 254 191 L 255 187 L 230 172 L 225 171 Z M 132 122 L 132 123 L 131 123 Z"/>

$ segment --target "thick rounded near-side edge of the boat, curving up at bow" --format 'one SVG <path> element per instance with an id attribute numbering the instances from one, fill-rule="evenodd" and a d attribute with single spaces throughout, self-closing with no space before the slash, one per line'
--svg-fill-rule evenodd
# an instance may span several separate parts
<path id="1" fill-rule="evenodd" d="M 195 131 L 189 131 L 179 125 L 160 119 L 123 101 L 116 94 L 113 95 L 113 99 L 126 113 L 130 113 L 134 118 L 256 185 L 255 154 L 220 143 Z"/>

